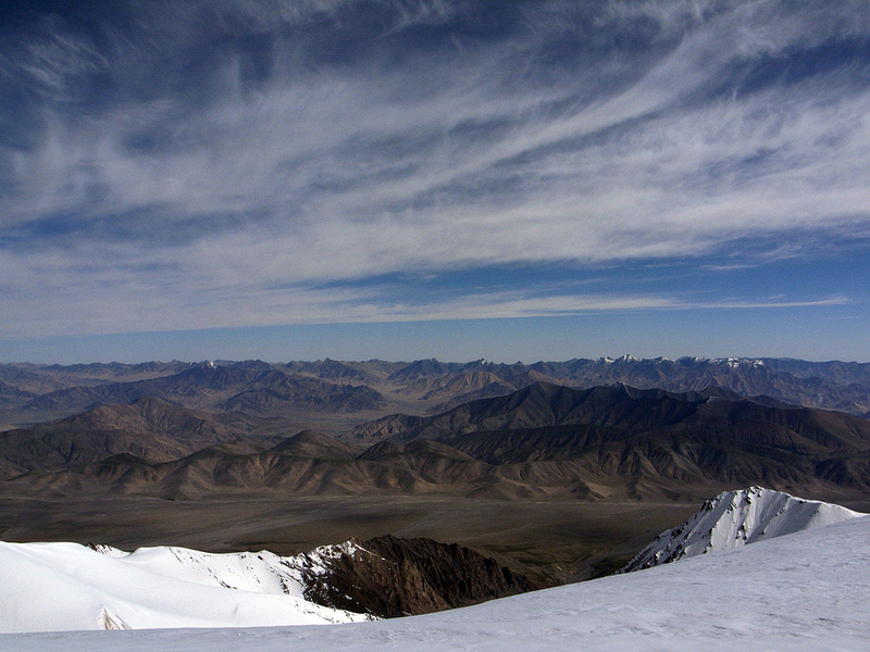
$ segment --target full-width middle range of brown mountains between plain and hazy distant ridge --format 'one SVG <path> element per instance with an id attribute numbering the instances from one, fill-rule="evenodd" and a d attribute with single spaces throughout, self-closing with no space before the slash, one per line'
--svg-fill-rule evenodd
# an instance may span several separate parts
<path id="1" fill-rule="evenodd" d="M 4 488 L 668 500 L 734 484 L 812 494 L 870 489 L 870 422 L 720 389 L 536 383 L 438 415 L 382 417 L 339 438 L 310 430 L 258 437 L 248 427 L 239 415 L 153 398 L 101 406 L 2 434 Z"/>

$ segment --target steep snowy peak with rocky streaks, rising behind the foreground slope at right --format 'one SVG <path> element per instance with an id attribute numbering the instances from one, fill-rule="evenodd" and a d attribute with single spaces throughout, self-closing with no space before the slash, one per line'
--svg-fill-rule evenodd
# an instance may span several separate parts
<path id="1" fill-rule="evenodd" d="M 724 491 L 704 503 L 685 523 L 656 537 L 621 572 L 649 568 L 863 515 L 762 487 Z"/>

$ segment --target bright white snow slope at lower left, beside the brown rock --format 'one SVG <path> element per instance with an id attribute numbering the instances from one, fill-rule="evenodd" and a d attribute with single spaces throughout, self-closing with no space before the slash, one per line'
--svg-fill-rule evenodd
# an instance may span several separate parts
<path id="1" fill-rule="evenodd" d="M 0 542 L 0 631 L 240 627 L 368 619 L 304 599 L 345 544 L 295 557 Z M 0 645 L 2 648 L 2 645 Z"/>

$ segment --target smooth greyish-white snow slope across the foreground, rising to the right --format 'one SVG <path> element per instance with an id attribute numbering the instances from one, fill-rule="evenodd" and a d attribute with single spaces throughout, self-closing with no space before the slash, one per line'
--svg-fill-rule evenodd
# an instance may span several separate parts
<path id="1" fill-rule="evenodd" d="M 477 606 L 328 627 L 0 636 L 9 652 L 870 649 L 870 518 Z"/>

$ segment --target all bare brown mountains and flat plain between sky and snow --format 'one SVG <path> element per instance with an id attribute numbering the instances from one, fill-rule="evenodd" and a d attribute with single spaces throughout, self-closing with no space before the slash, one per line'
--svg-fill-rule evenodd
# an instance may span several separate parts
<path id="1" fill-rule="evenodd" d="M 652 383 L 650 374 L 666 384 L 669 369 L 682 369 L 671 381 L 695 374 L 697 387 L 546 379 L 577 379 L 583 369 L 606 371 L 608 380 L 631 372 L 638 385 L 644 375 Z M 18 541 L 74 531 L 79 542 L 119 547 L 296 554 L 408 531 L 481 546 L 512 572 L 552 584 L 614 570 L 668 515 L 683 519 L 696 501 L 735 486 L 855 509 L 870 496 L 870 422 L 745 385 L 756 375 L 785 387 L 783 378 L 813 373 L 812 384 L 825 376 L 855 393 L 865 367 L 853 363 L 626 356 L 0 372 L 9 423 L 45 416 L 40 401 L 105 401 L 0 431 L 3 531 Z M 706 383 L 712 374 L 744 383 L 745 392 Z M 474 392 L 494 396 L 460 401 Z M 563 513 L 577 521 L 561 524 Z M 629 513 L 631 523 L 620 521 Z M 199 525 L 206 514 L 208 528 Z"/>

